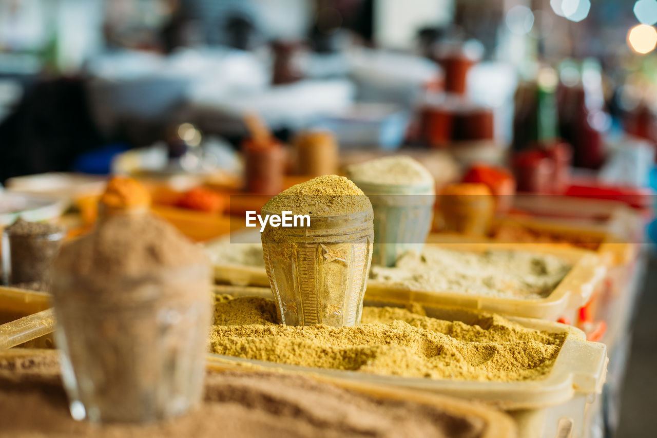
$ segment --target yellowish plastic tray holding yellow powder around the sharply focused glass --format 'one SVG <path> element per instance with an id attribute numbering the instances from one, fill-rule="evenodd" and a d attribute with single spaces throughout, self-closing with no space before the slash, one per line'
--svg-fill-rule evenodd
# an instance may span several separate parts
<path id="1" fill-rule="evenodd" d="M 254 294 L 254 289 L 243 293 L 231 288 L 236 296 L 266 296 L 267 289 Z M 226 291 L 221 291 L 226 293 Z M 365 299 L 368 306 L 400 306 L 396 297 L 380 295 L 377 299 Z M 403 305 L 403 304 L 401 304 Z M 455 307 L 424 306 L 427 316 L 449 321 L 461 321 L 472 324 L 476 312 Z M 547 377 L 528 381 L 473 381 L 454 379 L 423 379 L 419 377 L 377 376 L 356 371 L 330 370 L 248 360 L 219 354 L 209 354 L 210 363 L 231 363 L 246 365 L 250 368 L 278 369 L 290 372 L 326 376 L 340 379 L 399 387 L 450 395 L 467 401 L 478 401 L 496 406 L 514 418 L 518 426 L 518 436 L 523 438 L 555 438 L 570 436 L 581 438 L 584 433 L 585 412 L 588 404 L 595 401 L 602 391 L 606 379 L 606 347 L 600 343 L 587 342 L 583 331 L 558 324 L 530 318 L 509 317 L 509 320 L 523 327 L 549 331 L 551 333 L 569 333 L 568 339 L 556 358 L 555 364 Z M 566 431 L 566 435 L 559 435 Z M 572 433 L 572 435 L 568 435 Z"/>

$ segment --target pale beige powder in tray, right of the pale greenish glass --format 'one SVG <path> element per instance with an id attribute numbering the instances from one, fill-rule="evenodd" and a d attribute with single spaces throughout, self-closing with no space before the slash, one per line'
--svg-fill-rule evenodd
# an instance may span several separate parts
<path id="1" fill-rule="evenodd" d="M 392 268 L 372 266 L 370 278 L 422 291 L 515 299 L 545 298 L 572 266 L 562 258 L 523 251 L 471 253 L 425 246 Z"/>

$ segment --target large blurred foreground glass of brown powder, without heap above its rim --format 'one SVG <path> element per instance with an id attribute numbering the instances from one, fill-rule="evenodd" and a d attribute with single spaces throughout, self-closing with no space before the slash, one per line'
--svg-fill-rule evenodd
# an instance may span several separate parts
<path id="1" fill-rule="evenodd" d="M 200 403 L 209 278 L 202 265 L 103 285 L 55 272 L 55 341 L 73 418 L 145 424 Z"/>

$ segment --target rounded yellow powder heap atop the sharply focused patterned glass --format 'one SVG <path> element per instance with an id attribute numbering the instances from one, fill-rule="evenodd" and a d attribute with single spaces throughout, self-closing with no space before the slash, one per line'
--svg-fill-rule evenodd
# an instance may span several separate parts
<path id="1" fill-rule="evenodd" d="M 365 193 L 344 176 L 318 176 L 293 185 L 270 199 L 262 208 L 281 214 L 309 214 L 310 216 L 336 216 L 372 209 Z"/>

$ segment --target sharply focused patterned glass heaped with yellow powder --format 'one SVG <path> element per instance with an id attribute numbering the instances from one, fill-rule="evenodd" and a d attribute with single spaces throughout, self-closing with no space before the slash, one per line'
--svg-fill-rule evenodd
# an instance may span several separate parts
<path id="1" fill-rule="evenodd" d="M 269 222 L 261 234 L 281 322 L 359 324 L 374 237 L 371 203 L 350 180 L 327 175 L 281 192 L 262 214 L 284 211 L 307 220 L 292 227 Z"/>

